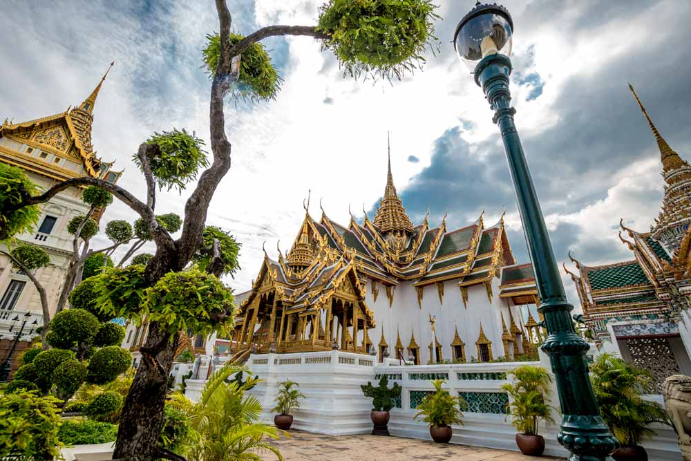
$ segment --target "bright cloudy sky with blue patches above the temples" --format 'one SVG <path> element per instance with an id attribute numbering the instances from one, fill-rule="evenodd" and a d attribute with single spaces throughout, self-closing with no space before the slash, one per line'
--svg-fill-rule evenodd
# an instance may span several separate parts
<path id="1" fill-rule="evenodd" d="M 318 0 L 228 0 L 233 30 L 313 25 Z M 439 50 L 401 81 L 356 81 L 310 37 L 267 39 L 284 79 L 275 101 L 227 101 L 231 170 L 208 223 L 242 244 L 242 269 L 227 282 L 250 288 L 269 256 L 290 249 L 304 217 L 347 225 L 349 207 L 370 218 L 384 193 L 387 132 L 395 185 L 415 223 L 430 210 L 437 225 L 491 225 L 506 210 L 513 252 L 529 261 L 511 178 L 492 111 L 460 63 L 451 39 L 471 0 L 437 0 Z M 585 265 L 633 258 L 618 222 L 641 232 L 659 211 L 659 151 L 628 89 L 636 88 L 672 148 L 687 160 L 691 131 L 691 2 L 507 0 L 513 15 L 511 93 L 516 124 L 540 196 L 556 258 Z M 0 15 L 0 119 L 15 122 L 65 111 L 91 93 L 111 61 L 95 106 L 93 144 L 124 173 L 119 185 L 144 196 L 131 162 L 154 132 L 209 138 L 205 35 L 218 30 L 213 0 L 6 0 Z M 157 212 L 182 214 L 193 189 L 163 192 Z M 105 220 L 133 221 L 114 203 Z M 102 226 L 103 227 L 103 226 Z M 100 236 L 101 243 L 106 243 Z M 95 245 L 97 246 L 97 245 Z M 569 261 L 571 269 L 574 268 Z M 569 300 L 578 305 L 564 276 Z"/>

